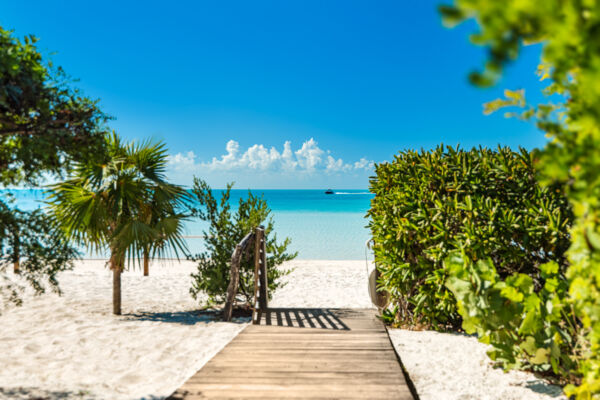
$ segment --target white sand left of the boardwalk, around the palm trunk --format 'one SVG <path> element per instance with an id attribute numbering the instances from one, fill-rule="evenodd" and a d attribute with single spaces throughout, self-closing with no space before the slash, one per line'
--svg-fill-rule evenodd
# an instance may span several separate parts
<path id="1" fill-rule="evenodd" d="M 103 262 L 62 273 L 64 295 L 26 298 L 0 315 L 0 399 L 157 399 L 171 394 L 244 328 L 191 311 L 191 263 L 125 272 L 112 312 Z M 142 315 L 143 313 L 146 313 Z"/>

